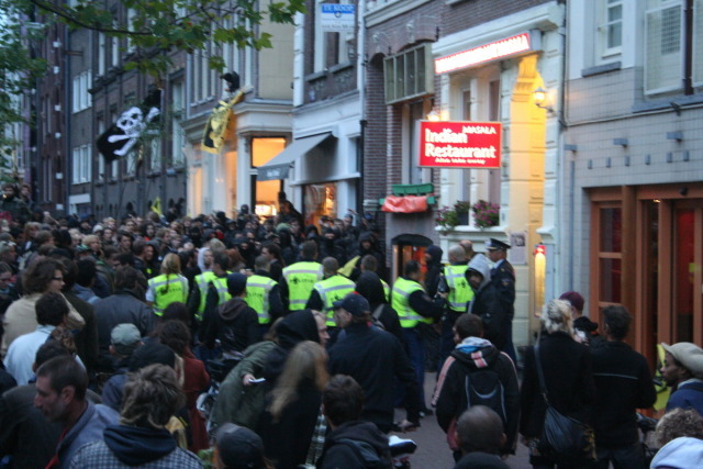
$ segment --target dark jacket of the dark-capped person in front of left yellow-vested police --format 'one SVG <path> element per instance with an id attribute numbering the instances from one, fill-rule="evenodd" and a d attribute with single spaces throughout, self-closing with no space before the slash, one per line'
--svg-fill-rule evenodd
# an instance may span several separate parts
<path id="1" fill-rule="evenodd" d="M 223 351 L 244 351 L 259 339 L 259 320 L 256 311 L 242 298 L 216 308 L 205 332 L 205 345 L 213 348 L 220 339 Z"/>

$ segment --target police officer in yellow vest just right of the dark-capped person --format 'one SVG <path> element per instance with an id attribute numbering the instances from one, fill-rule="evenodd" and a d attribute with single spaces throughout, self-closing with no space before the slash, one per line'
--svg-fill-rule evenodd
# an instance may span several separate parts
<path id="1" fill-rule="evenodd" d="M 256 311 L 261 336 L 268 332 L 270 324 L 283 315 L 278 282 L 270 277 L 271 261 L 266 255 L 254 260 L 254 275 L 246 280 L 244 301 Z"/>

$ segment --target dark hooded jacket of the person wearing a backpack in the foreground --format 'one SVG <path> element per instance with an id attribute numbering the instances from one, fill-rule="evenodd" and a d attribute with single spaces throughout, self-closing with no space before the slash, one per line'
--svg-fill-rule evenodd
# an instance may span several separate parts
<path id="1" fill-rule="evenodd" d="M 470 405 L 467 383 L 471 383 L 471 375 L 491 370 L 498 376 L 503 390 L 503 409 L 494 409 L 499 415 L 505 413 L 505 436 L 507 440 L 503 453 L 513 453 L 516 443 L 517 424 L 520 422 L 520 388 L 517 372 L 510 357 L 500 351 L 489 340 L 479 337 L 467 337 L 450 355 L 437 382 L 436 415 L 439 426 L 449 435 L 453 421 Z M 450 442 L 450 446 L 453 446 Z"/>

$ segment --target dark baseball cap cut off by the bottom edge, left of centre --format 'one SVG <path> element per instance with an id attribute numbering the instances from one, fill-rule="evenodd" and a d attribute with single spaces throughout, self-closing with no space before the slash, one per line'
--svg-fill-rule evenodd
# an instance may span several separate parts
<path id="1" fill-rule="evenodd" d="M 249 428 L 225 423 L 215 432 L 220 459 L 231 469 L 264 468 L 264 442 Z"/>

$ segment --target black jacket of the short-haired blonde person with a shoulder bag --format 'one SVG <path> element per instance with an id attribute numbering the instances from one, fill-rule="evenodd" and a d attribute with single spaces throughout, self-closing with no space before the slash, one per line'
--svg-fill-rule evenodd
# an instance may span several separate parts
<path id="1" fill-rule="evenodd" d="M 557 332 L 543 336 L 539 358 L 549 403 L 565 415 L 590 422 L 595 387 L 589 348 L 570 335 Z M 520 433 L 526 437 L 539 437 L 547 405 L 539 391 L 534 347 L 525 350 L 520 402 Z"/>

